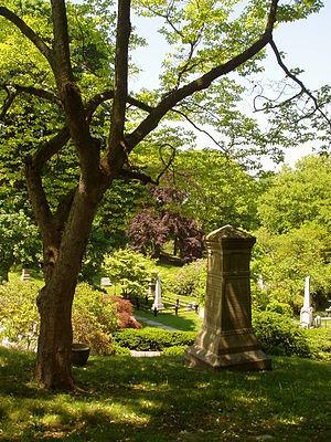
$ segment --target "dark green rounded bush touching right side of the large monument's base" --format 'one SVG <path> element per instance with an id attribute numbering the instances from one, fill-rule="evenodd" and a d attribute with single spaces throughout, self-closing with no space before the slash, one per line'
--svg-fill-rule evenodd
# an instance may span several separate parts
<path id="1" fill-rule="evenodd" d="M 307 335 L 291 318 L 275 312 L 256 312 L 252 324 L 267 354 L 310 356 Z"/>

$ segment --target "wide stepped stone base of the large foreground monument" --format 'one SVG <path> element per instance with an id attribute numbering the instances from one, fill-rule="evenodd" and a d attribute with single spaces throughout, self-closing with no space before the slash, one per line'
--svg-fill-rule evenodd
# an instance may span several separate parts
<path id="1" fill-rule="evenodd" d="M 184 364 L 212 370 L 271 370 L 271 359 L 249 329 L 227 334 L 202 329 L 195 344 L 186 348 Z"/>

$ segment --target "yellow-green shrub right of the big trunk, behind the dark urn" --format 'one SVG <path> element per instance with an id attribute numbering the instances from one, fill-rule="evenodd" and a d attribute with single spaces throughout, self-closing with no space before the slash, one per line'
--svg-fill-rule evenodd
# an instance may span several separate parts
<path id="1" fill-rule="evenodd" d="M 116 304 L 102 292 L 94 291 L 88 284 L 76 287 L 73 304 L 74 341 L 86 343 L 92 352 L 111 354 L 111 334 L 119 326 Z"/>

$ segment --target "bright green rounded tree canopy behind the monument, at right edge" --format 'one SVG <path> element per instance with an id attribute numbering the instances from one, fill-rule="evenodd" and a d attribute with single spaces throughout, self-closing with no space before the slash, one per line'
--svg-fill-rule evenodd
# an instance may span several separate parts
<path id="1" fill-rule="evenodd" d="M 258 201 L 254 272 L 274 298 L 296 312 L 307 275 L 314 307 L 323 307 L 331 290 L 330 166 L 325 156 L 285 166 Z"/>

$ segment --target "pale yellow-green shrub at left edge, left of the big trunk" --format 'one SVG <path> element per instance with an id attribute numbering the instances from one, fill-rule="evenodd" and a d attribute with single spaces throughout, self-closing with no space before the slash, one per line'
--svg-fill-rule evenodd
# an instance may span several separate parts
<path id="1" fill-rule="evenodd" d="M 29 281 L 0 284 L 0 343 L 34 349 L 39 334 L 36 296 L 39 288 Z"/>

